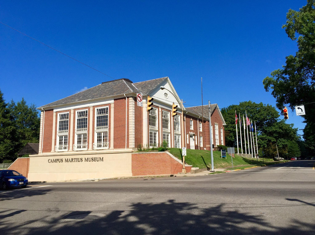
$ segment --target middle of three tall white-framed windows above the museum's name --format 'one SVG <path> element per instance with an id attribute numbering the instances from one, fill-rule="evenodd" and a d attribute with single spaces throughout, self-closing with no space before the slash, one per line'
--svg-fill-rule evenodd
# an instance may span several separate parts
<path id="1" fill-rule="evenodd" d="M 76 130 L 75 130 L 74 151 L 88 149 L 88 110 L 79 110 L 76 112 Z"/>

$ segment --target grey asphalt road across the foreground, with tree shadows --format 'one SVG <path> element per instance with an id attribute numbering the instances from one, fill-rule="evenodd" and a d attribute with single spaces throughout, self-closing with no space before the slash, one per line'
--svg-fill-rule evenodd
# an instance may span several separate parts
<path id="1" fill-rule="evenodd" d="M 315 161 L 0 191 L 1 234 L 315 234 Z"/>

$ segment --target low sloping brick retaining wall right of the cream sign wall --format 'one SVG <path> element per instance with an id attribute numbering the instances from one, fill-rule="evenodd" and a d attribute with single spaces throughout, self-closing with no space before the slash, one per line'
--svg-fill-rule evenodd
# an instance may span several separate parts
<path id="1" fill-rule="evenodd" d="M 191 167 L 185 167 L 186 172 Z M 148 152 L 131 154 L 132 175 L 162 175 L 177 174 L 183 169 L 183 164 L 173 159 L 166 152 Z"/>

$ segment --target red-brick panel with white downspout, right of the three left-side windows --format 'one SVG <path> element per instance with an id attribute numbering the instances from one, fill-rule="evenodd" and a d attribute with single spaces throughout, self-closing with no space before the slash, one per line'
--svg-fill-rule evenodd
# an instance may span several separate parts
<path id="1" fill-rule="evenodd" d="M 127 99 L 127 135 L 129 134 L 129 100 Z M 114 149 L 126 146 L 126 98 L 114 100 Z M 127 148 L 129 136 L 127 136 Z"/>

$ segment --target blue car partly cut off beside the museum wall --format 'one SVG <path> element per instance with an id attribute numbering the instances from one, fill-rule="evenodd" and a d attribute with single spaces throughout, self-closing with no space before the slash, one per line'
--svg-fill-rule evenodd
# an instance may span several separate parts
<path id="1" fill-rule="evenodd" d="M 3 190 L 14 187 L 26 188 L 28 180 L 25 176 L 13 170 L 0 171 L 0 186 Z"/>

